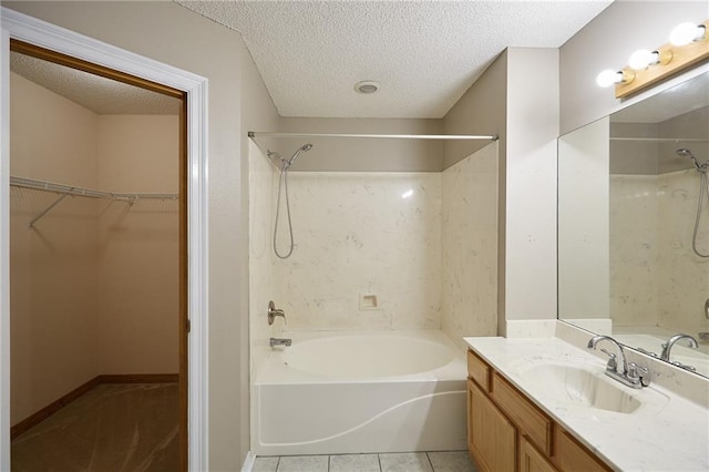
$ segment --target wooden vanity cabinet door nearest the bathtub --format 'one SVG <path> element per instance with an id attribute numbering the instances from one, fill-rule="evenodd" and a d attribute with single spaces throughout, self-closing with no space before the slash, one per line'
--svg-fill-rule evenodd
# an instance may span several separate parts
<path id="1" fill-rule="evenodd" d="M 514 472 L 516 430 L 483 391 L 467 381 L 467 443 L 485 471 Z"/>

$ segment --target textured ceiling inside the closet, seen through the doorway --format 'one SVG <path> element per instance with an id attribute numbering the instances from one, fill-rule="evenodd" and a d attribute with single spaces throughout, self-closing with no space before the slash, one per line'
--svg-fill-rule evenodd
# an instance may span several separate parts
<path id="1" fill-rule="evenodd" d="M 179 114 L 177 99 L 17 52 L 10 70 L 96 114 Z"/>

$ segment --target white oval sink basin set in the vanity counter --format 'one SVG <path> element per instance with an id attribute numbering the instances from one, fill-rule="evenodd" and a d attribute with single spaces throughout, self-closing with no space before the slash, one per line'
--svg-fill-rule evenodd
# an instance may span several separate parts
<path id="1" fill-rule="evenodd" d="M 628 388 L 606 377 L 603 372 L 564 363 L 540 363 L 523 372 L 531 387 L 543 389 L 547 397 L 583 407 L 633 413 L 643 403 Z M 618 387 L 612 382 L 618 383 Z"/>

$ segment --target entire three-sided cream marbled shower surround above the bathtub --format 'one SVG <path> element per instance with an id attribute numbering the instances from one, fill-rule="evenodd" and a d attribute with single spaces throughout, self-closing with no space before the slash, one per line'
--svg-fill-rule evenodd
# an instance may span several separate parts
<path id="1" fill-rule="evenodd" d="M 284 327 L 442 329 L 461 349 L 463 336 L 495 335 L 496 143 L 442 173 L 289 173 L 285 260 L 273 250 L 279 170 L 255 144 L 249 164 L 251 378 Z M 280 218 L 286 253 L 285 207 Z M 267 326 L 269 299 L 287 325 Z"/>

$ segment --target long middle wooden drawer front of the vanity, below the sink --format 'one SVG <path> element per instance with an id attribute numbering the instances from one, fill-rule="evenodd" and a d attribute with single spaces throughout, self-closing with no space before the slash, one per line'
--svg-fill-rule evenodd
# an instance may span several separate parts
<path id="1" fill-rule="evenodd" d="M 492 398 L 520 428 L 520 432 L 549 455 L 552 452 L 552 420 L 520 393 L 497 372 L 492 376 Z"/>

